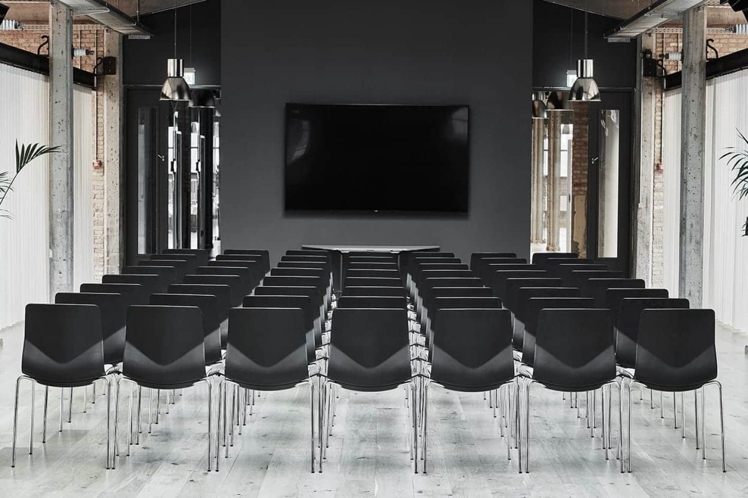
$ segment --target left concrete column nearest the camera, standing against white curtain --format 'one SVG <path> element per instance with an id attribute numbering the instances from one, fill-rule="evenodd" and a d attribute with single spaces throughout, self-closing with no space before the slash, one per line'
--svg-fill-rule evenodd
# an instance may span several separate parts
<path id="1" fill-rule="evenodd" d="M 49 7 L 49 293 L 73 290 L 73 13 Z"/>

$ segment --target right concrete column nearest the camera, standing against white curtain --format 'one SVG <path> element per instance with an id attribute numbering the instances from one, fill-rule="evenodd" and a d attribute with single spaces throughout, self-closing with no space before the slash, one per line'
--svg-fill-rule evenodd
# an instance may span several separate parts
<path id="1" fill-rule="evenodd" d="M 681 247 L 678 290 L 691 308 L 702 305 L 704 279 L 704 157 L 706 146 L 705 7 L 683 16 L 681 110 Z"/>

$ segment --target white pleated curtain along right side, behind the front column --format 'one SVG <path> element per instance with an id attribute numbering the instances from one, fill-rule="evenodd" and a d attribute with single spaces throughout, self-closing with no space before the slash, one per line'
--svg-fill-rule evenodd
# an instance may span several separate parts
<path id="1" fill-rule="evenodd" d="M 666 93 L 663 249 L 666 286 L 673 295 L 678 293 L 680 110 L 680 93 Z M 748 134 L 748 71 L 708 81 L 704 199 L 704 306 L 714 308 L 723 323 L 748 332 L 748 237 L 741 237 L 748 200 L 739 201 L 733 195 L 734 173 L 720 160 L 728 147 L 746 147 L 738 139 L 738 130 Z"/>

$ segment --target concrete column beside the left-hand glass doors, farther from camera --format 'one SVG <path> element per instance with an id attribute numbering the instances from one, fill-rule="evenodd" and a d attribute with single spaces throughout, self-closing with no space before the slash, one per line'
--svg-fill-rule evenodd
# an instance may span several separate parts
<path id="1" fill-rule="evenodd" d="M 124 127 L 122 124 L 122 35 L 104 34 L 104 55 L 117 57 L 117 74 L 102 76 L 104 90 L 104 272 L 120 273 L 124 251 Z"/>

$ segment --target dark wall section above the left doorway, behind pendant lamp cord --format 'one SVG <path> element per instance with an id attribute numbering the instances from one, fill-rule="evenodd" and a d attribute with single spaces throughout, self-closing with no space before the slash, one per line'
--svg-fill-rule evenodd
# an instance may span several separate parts
<path id="1" fill-rule="evenodd" d="M 166 78 L 166 60 L 174 57 L 174 10 L 141 16 L 141 22 L 154 35 L 150 40 L 125 37 L 124 84 L 160 85 Z M 197 85 L 221 84 L 220 31 L 221 0 L 177 9 L 177 57 L 184 60 L 185 67 L 197 69 Z"/>

